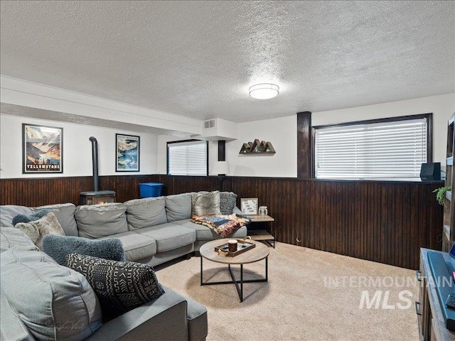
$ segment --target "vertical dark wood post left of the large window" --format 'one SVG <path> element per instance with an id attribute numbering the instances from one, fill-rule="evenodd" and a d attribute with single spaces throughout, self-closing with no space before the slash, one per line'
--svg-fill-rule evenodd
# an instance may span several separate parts
<path id="1" fill-rule="evenodd" d="M 297 178 L 311 178 L 311 112 L 297 113 Z"/>

